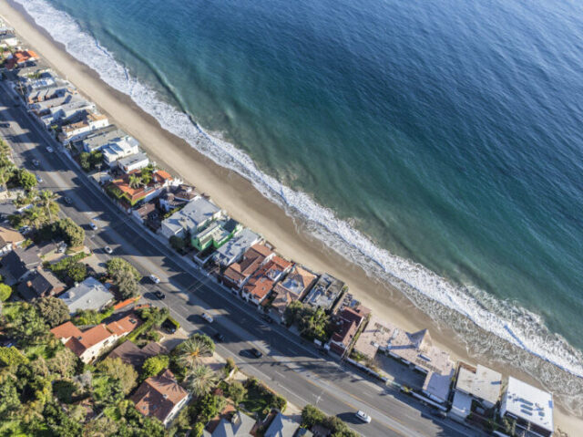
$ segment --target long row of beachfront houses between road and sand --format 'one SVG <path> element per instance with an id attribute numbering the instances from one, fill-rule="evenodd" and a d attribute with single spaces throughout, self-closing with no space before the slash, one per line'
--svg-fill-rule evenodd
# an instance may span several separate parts
<path id="1" fill-rule="evenodd" d="M 472 415 L 491 417 L 495 409 L 498 417 L 515 421 L 524 435 L 552 435 L 550 393 L 513 378 L 503 384 L 499 373 L 481 365 L 456 364 L 448 352 L 433 344 L 427 329 L 410 333 L 384 322 L 350 295 L 343 296 L 345 286 L 339 279 L 315 274 L 277 255 L 260 234 L 230 218 L 210 198 L 168 172 L 151 167 L 136 139 L 111 125 L 95 104 L 79 96 L 66 80 L 57 78 L 34 51 L 17 47 L 14 34 L 6 31 L 3 35 L 3 73 L 13 81 L 39 123 L 54 131 L 56 138 L 72 150 L 101 152 L 107 172 L 99 172 L 97 177 L 107 192 L 140 222 L 170 241 L 179 239 L 195 250 L 194 260 L 212 271 L 234 294 L 282 322 L 292 302 L 322 308 L 333 316 L 336 325 L 325 349 L 343 358 L 354 350 L 369 361 L 379 354 L 398 360 L 423 375 L 416 395 L 449 409 L 456 420 L 467 421 Z M 44 274 L 37 270 L 36 277 L 40 276 Z M 77 289 L 67 293 L 73 299 L 84 294 Z M 75 307 L 73 302 L 67 304 Z M 62 337 L 82 359 L 93 359 L 98 345 L 123 335 L 122 330 L 117 333 L 107 325 L 89 331 Z M 171 386 L 169 375 L 159 378 L 162 380 L 152 382 L 148 390 L 159 390 L 157 384 Z M 162 399 L 164 394 L 161 403 Z M 135 401 L 141 405 L 139 399 Z M 148 408 L 144 404 L 140 411 L 148 414 Z"/>

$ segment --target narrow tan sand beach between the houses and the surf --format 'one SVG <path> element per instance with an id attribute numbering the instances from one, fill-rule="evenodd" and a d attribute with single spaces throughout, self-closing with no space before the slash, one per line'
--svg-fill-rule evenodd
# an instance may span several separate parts
<path id="1" fill-rule="evenodd" d="M 342 278 L 350 286 L 353 295 L 365 306 L 373 308 L 378 316 L 411 331 L 429 328 L 435 343 L 449 350 L 453 359 L 476 362 L 478 357 L 470 356 L 465 346 L 455 340 L 453 329 L 438 325 L 404 297 L 401 291 L 368 276 L 361 267 L 353 265 L 342 255 L 326 248 L 320 240 L 304 232 L 302 224 L 271 203 L 251 182 L 220 167 L 195 151 L 186 141 L 163 130 L 157 120 L 139 109 L 127 95 L 110 88 L 95 71 L 68 55 L 65 47 L 53 41 L 44 29 L 34 25 L 18 5 L 5 3 L 0 6 L 0 13 L 15 27 L 23 41 L 34 47 L 48 64 L 75 84 L 88 99 L 95 101 L 110 120 L 136 137 L 142 148 L 161 167 L 193 183 L 199 191 L 210 194 L 233 218 L 258 231 L 275 245 L 281 255 L 308 265 L 315 271 L 328 272 Z M 487 361 L 482 356 L 479 359 Z M 516 369 L 508 371 L 500 362 L 485 364 L 505 375 L 511 374 L 537 386 L 541 385 L 525 372 Z M 560 405 L 557 407 L 557 425 L 577 435 L 576 432 L 583 429 L 583 421 L 560 411 Z"/>

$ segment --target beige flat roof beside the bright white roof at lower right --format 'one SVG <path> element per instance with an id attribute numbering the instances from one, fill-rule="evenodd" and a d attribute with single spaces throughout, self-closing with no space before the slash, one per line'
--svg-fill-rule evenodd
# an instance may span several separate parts
<path id="1" fill-rule="evenodd" d="M 501 386 L 502 375 L 497 371 L 481 364 L 474 368 L 460 363 L 455 389 L 494 404 L 500 398 Z"/>

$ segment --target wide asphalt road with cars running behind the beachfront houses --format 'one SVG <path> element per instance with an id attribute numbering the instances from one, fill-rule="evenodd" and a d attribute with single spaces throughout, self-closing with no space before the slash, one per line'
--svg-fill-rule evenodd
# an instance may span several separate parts
<path id="1" fill-rule="evenodd" d="M 322 357 L 286 328 L 262 322 L 253 307 L 230 295 L 111 203 L 58 151 L 56 141 L 30 118 L 26 109 L 15 107 L 16 100 L 5 84 L 0 85 L 0 134 L 12 146 L 16 164 L 42 178 L 39 188 L 73 200 L 70 206 L 61 203 L 61 209 L 85 228 L 86 244 L 100 260 L 105 262 L 110 257 L 103 250 L 109 245 L 114 250 L 111 256 L 128 259 L 145 276 L 159 276 L 158 285 L 148 279 L 142 281 L 144 297 L 154 305 L 169 307 L 186 331 L 201 330 L 210 336 L 221 332 L 225 341 L 217 345 L 220 355 L 235 359 L 245 373 L 265 381 L 295 405 L 317 405 L 364 436 L 476 435 L 454 421 L 434 417 L 431 409 L 398 390 Z M 55 151 L 46 151 L 47 145 Z M 33 165 L 35 159 L 40 161 L 38 167 Z M 97 231 L 89 227 L 91 221 L 97 224 Z M 157 289 L 165 293 L 164 300 L 154 297 Z M 211 325 L 200 317 L 202 311 L 214 317 Z M 250 348 L 261 349 L 264 356 L 245 356 L 244 351 Z M 373 421 L 357 421 L 353 415 L 357 410 L 368 412 Z"/>

